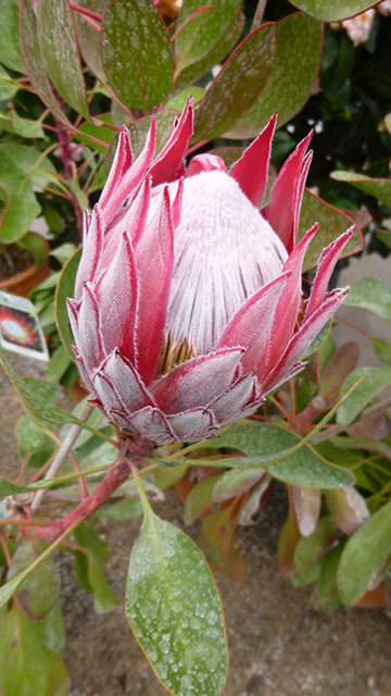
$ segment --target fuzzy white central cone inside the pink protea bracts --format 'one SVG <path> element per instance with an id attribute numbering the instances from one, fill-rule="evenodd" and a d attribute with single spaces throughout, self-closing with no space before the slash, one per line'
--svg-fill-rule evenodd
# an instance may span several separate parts
<path id="1" fill-rule="evenodd" d="M 166 322 L 172 339 L 186 339 L 197 355 L 213 350 L 241 304 L 281 273 L 287 258 L 235 179 L 218 171 L 186 178 Z"/>

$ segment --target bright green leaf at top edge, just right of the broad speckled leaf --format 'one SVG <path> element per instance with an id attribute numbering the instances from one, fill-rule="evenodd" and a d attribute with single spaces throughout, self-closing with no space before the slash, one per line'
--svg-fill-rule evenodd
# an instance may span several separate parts
<path id="1" fill-rule="evenodd" d="M 177 73 L 187 65 L 204 59 L 215 48 L 237 16 L 241 2 L 240 0 L 211 2 L 210 5 L 214 5 L 213 9 L 201 12 L 184 26 L 194 12 L 206 4 L 204 0 L 184 0 L 178 21 L 178 35 L 175 40 L 175 52 L 178 57 Z"/>

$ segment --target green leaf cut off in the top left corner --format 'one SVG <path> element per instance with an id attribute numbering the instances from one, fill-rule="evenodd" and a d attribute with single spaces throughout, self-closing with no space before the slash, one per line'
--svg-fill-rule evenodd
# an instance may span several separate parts
<path id="1" fill-rule="evenodd" d="M 0 63 L 16 73 L 25 72 L 20 42 L 18 7 L 14 0 L 0 2 Z"/>

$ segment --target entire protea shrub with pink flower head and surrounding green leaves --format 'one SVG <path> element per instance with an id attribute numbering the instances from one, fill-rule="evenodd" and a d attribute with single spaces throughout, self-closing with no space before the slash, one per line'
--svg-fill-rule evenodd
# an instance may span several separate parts
<path id="1" fill-rule="evenodd" d="M 1 251 L 39 263 L 40 217 L 52 263 L 30 296 L 48 378 L 0 351 L 27 411 L 21 471 L 0 476 L 2 696 L 68 694 L 58 550 L 98 611 L 125 602 L 169 693 L 220 694 L 207 560 L 241 579 L 237 527 L 276 481 L 281 572 L 319 612 L 389 607 L 391 344 L 367 335 L 378 364 L 357 366 L 363 330 L 337 348 L 332 325 L 342 303 L 391 323 L 383 281 L 338 287 L 363 232 L 391 248 L 390 15 L 388 0 L 1 0 Z M 76 381 L 67 412 L 58 383 Z M 206 558 L 153 511 L 174 486 Z M 94 525 L 135 515 L 116 598 Z"/>

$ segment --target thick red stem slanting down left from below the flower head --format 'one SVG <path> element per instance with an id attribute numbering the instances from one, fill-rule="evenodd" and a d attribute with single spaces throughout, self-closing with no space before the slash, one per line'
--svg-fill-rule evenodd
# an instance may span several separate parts
<path id="1" fill-rule="evenodd" d="M 42 542 L 51 544 L 55 542 L 78 519 L 89 520 L 98 508 L 128 478 L 130 474 L 129 460 L 124 458 L 108 471 L 103 481 L 87 498 L 84 498 L 76 508 L 71 510 L 62 520 L 53 522 L 51 527 L 37 527 L 36 536 Z"/>

